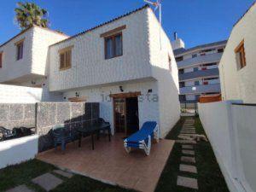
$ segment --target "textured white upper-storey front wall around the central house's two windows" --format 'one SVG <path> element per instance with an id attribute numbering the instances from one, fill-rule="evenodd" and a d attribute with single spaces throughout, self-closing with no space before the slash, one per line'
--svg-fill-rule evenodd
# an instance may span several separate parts
<path id="1" fill-rule="evenodd" d="M 100 35 L 124 25 L 123 55 L 105 60 L 104 38 Z M 73 46 L 72 67 L 60 71 L 58 50 L 68 46 Z M 147 9 L 53 45 L 49 51 L 49 90 L 67 90 L 150 77 Z"/>

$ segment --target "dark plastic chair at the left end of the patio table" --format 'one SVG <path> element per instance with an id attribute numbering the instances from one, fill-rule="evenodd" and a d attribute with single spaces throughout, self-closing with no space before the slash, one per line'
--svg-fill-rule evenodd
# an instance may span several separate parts
<path id="1" fill-rule="evenodd" d="M 58 144 L 61 144 L 61 150 L 64 152 L 66 149 L 66 144 L 73 142 L 75 139 L 75 134 L 73 131 L 69 131 L 65 128 L 65 125 L 55 125 L 52 128 L 52 133 L 54 137 L 55 149 Z"/>

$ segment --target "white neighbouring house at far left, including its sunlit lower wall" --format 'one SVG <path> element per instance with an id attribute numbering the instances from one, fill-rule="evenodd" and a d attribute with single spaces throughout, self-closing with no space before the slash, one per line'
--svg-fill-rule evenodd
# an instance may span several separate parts
<path id="1" fill-rule="evenodd" d="M 31 26 L 0 45 L 0 102 L 61 101 L 62 94 L 48 91 L 47 62 L 49 45 L 65 38 Z"/>

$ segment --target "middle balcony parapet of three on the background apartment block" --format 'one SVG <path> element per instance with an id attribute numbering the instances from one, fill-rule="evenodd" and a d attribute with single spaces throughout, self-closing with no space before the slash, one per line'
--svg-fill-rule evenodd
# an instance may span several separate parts
<path id="1" fill-rule="evenodd" d="M 212 76 L 218 76 L 218 68 L 212 68 L 207 70 L 200 70 L 196 72 L 183 73 L 178 75 L 178 79 L 180 81 L 188 80 L 188 79 L 199 79 L 199 78 L 207 78 Z"/>

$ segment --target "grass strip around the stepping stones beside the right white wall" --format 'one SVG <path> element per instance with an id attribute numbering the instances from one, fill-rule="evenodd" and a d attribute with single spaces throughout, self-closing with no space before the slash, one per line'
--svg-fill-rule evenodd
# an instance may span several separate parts
<path id="1" fill-rule="evenodd" d="M 166 136 L 166 139 L 177 139 L 185 119 L 183 117 L 177 122 L 172 131 Z M 205 134 L 198 117 L 195 118 L 195 131 L 197 134 Z M 166 162 L 165 169 L 161 174 L 156 192 L 229 192 L 210 143 L 199 142 L 195 145 L 195 166 L 197 167 L 198 174 L 179 172 L 180 158 L 182 156 L 181 150 L 182 144 L 175 143 L 172 153 Z M 188 165 L 188 163 L 184 164 Z M 197 178 L 199 189 L 195 190 L 177 186 L 177 176 Z"/>

